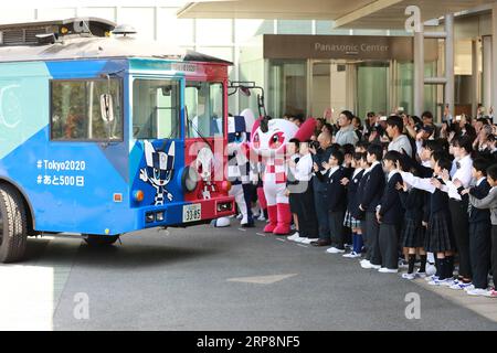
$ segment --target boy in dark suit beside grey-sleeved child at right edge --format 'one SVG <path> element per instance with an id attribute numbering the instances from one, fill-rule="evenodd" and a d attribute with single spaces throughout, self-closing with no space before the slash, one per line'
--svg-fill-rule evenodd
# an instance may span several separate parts
<path id="1" fill-rule="evenodd" d="M 473 161 L 473 179 L 476 185 L 469 194 L 478 200 L 485 199 L 490 185 L 487 182 L 488 161 L 483 158 Z M 469 263 L 472 265 L 473 286 L 466 292 L 469 296 L 486 296 L 488 270 L 490 269 L 491 222 L 490 211 L 469 207 Z"/>

